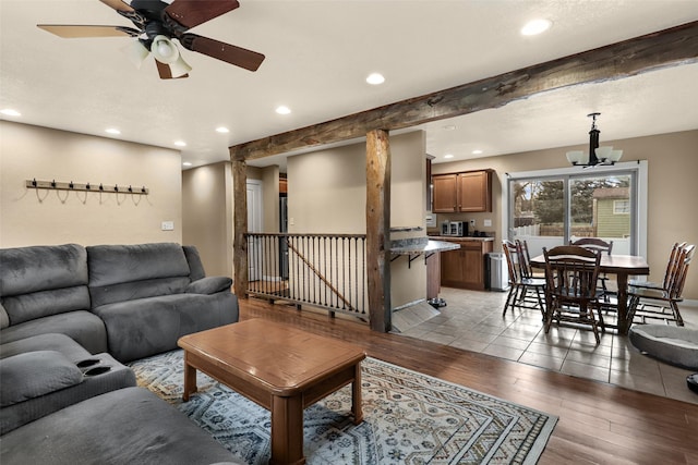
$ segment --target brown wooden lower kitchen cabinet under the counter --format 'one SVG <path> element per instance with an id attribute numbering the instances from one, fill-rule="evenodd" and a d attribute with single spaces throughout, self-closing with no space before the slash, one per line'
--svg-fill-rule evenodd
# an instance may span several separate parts
<path id="1" fill-rule="evenodd" d="M 464 238 L 449 242 L 460 248 L 441 254 L 441 284 L 484 291 L 485 254 L 492 252 L 493 241 Z"/>

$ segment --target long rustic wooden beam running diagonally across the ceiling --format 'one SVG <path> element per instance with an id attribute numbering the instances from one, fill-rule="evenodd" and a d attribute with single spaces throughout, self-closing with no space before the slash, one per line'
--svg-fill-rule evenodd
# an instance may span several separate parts
<path id="1" fill-rule="evenodd" d="M 230 147 L 251 160 L 503 107 L 543 91 L 698 62 L 698 21 Z"/>

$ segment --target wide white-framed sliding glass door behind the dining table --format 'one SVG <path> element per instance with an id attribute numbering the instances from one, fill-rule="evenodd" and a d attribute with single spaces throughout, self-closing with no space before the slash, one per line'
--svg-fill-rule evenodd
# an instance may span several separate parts
<path id="1" fill-rule="evenodd" d="M 504 224 L 532 255 L 579 237 L 613 241 L 613 253 L 646 255 L 647 162 L 512 173 Z"/>

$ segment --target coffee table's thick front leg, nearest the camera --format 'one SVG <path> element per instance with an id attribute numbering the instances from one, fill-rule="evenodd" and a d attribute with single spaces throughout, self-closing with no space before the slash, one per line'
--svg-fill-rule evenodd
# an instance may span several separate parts
<path id="1" fill-rule="evenodd" d="M 272 458 L 270 465 L 302 465 L 303 397 L 272 397 Z"/>

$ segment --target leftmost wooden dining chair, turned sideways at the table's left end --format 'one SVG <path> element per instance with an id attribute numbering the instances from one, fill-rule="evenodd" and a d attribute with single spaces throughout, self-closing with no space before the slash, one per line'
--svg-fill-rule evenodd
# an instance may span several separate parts
<path id="1" fill-rule="evenodd" d="M 542 317 L 545 318 L 545 280 L 530 276 L 530 262 L 528 264 L 529 271 L 526 271 L 527 259 L 518 241 L 503 241 L 502 248 L 509 274 L 509 294 L 506 297 L 502 316 L 506 315 L 508 308 L 519 307 L 539 309 Z"/>

